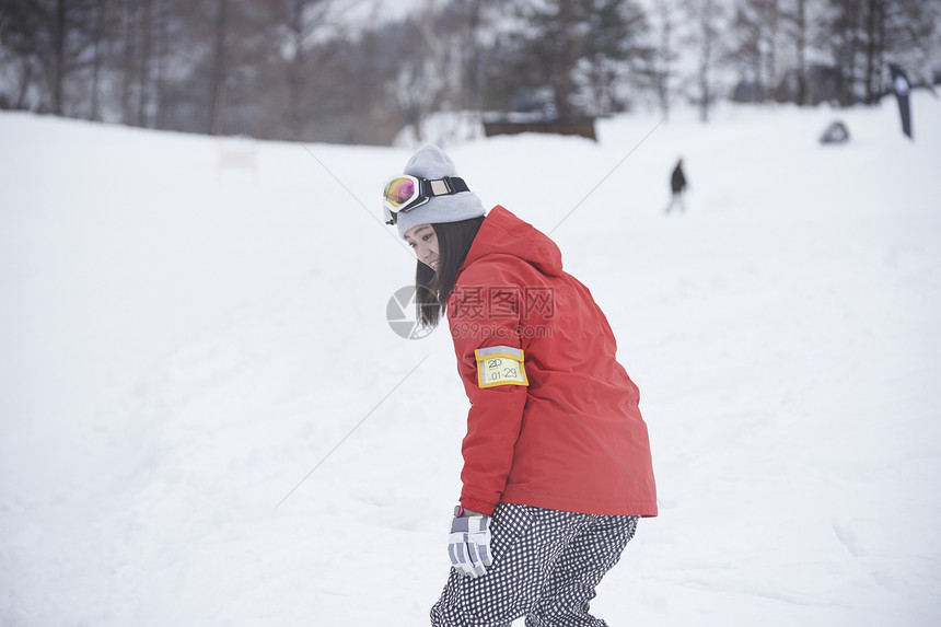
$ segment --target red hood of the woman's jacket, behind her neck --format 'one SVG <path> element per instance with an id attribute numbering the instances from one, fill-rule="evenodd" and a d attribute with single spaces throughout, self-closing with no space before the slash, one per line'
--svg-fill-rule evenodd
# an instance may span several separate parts
<path id="1" fill-rule="evenodd" d="M 555 242 L 499 205 L 487 213 L 461 269 L 490 255 L 511 255 L 547 275 L 562 275 L 562 253 Z"/>

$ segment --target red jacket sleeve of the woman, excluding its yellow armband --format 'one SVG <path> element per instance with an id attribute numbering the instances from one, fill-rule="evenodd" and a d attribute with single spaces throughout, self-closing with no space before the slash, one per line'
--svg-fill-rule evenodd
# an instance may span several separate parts
<path id="1" fill-rule="evenodd" d="M 525 385 L 481 387 L 479 381 L 476 350 L 523 348 L 519 334 L 521 286 L 501 270 L 504 268 L 499 265 L 475 264 L 461 276 L 448 305 L 457 370 L 472 404 L 462 443 L 461 504 L 484 514 L 493 512 L 507 486 L 528 396 Z"/>

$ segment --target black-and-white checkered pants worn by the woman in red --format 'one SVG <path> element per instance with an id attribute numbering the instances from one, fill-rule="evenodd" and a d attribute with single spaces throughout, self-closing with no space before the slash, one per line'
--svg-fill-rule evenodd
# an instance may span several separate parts
<path id="1" fill-rule="evenodd" d="M 525 616 L 526 627 L 604 627 L 589 614 L 589 602 L 638 519 L 498 504 L 490 520 L 492 566 L 475 579 L 452 569 L 431 625 L 510 627 Z"/>

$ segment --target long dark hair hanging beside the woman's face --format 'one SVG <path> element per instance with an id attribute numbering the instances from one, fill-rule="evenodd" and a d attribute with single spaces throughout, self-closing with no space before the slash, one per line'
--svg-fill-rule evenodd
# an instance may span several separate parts
<path id="1" fill-rule="evenodd" d="M 477 236 L 477 231 L 483 223 L 484 216 L 461 222 L 431 224 L 438 239 L 438 271 L 421 262 L 418 262 L 415 270 L 415 306 L 418 322 L 423 327 L 438 326 L 448 306 L 448 297 L 454 290 L 457 268 L 467 257 L 471 244 L 474 243 L 474 237 Z"/>

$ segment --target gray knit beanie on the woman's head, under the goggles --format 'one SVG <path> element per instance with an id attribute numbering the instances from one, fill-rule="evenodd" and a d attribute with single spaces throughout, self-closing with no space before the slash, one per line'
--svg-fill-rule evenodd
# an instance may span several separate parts
<path id="1" fill-rule="evenodd" d="M 440 148 L 431 143 L 411 155 L 405 164 L 404 173 L 428 179 L 457 176 L 454 162 Z M 484 213 L 484 204 L 476 194 L 461 191 L 448 196 L 434 196 L 411 211 L 398 213 L 396 224 L 398 234 L 404 237 L 406 231 L 418 224 L 460 222 L 479 218 Z"/>

